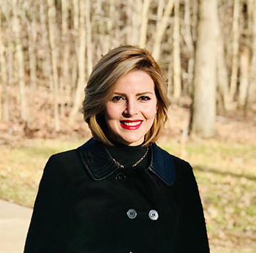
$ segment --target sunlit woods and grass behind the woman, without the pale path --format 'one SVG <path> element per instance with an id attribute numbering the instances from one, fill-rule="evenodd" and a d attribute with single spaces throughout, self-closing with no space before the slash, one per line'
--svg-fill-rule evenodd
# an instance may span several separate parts
<path id="1" fill-rule="evenodd" d="M 33 206 L 50 154 L 89 139 L 81 102 L 118 45 L 172 101 L 159 144 L 192 163 L 212 252 L 256 250 L 256 0 L 0 0 L 0 197 Z"/>

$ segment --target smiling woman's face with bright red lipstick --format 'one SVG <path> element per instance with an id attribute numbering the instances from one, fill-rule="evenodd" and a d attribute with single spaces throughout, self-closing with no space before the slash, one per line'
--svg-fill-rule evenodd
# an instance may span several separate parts
<path id="1" fill-rule="evenodd" d="M 151 129 L 157 113 L 154 81 L 143 71 L 130 72 L 113 86 L 105 105 L 108 137 L 138 146 Z"/>

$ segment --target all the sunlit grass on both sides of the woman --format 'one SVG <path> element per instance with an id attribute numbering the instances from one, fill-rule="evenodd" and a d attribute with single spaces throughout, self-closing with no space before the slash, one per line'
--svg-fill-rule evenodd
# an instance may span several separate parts
<path id="1" fill-rule="evenodd" d="M 37 139 L 0 146 L 0 198 L 32 207 L 49 156 L 84 141 Z M 159 146 L 194 168 L 211 252 L 256 252 L 256 145 L 194 139 L 184 146 L 165 137 Z"/>

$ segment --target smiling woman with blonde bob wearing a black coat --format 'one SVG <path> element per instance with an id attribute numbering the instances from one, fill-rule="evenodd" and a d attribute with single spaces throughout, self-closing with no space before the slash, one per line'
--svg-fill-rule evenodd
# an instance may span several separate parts
<path id="1" fill-rule="evenodd" d="M 192 168 L 155 144 L 168 105 L 148 51 L 121 46 L 98 62 L 83 102 L 93 137 L 50 157 L 26 253 L 209 252 Z"/>

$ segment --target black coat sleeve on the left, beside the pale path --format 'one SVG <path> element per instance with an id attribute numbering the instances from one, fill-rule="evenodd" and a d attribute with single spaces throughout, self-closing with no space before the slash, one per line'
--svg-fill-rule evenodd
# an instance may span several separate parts
<path id="1" fill-rule="evenodd" d="M 66 252 L 72 189 L 58 155 L 48 160 L 39 184 L 24 253 Z"/>

